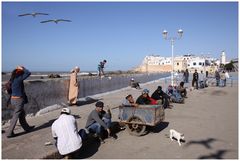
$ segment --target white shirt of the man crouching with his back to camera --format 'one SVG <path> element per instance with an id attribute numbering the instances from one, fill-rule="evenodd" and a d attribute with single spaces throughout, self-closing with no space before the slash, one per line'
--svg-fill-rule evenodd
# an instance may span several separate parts
<path id="1" fill-rule="evenodd" d="M 77 122 L 72 115 L 61 114 L 52 124 L 52 136 L 57 137 L 57 148 L 66 155 L 81 148 L 82 139 L 78 134 Z"/>

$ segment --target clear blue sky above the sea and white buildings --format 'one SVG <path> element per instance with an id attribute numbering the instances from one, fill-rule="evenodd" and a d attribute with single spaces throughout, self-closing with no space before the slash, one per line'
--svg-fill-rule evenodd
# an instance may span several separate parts
<path id="1" fill-rule="evenodd" d="M 18 17 L 43 12 L 48 16 Z M 72 22 L 40 23 L 63 18 Z M 149 54 L 238 57 L 238 2 L 2 2 L 2 71 L 129 70 Z"/>

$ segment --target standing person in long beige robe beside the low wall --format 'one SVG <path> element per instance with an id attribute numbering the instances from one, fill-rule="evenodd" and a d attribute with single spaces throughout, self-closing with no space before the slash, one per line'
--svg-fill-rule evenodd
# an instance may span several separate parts
<path id="1" fill-rule="evenodd" d="M 76 105 L 77 104 L 77 97 L 78 97 L 78 80 L 77 80 L 77 73 L 80 72 L 80 68 L 76 66 L 70 74 L 70 83 L 69 83 L 69 93 L 68 93 L 68 102 L 69 105 Z"/>

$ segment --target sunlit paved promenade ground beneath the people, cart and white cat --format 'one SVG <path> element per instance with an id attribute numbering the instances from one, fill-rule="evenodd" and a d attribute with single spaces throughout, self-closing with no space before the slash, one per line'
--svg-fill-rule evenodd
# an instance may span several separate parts
<path id="1" fill-rule="evenodd" d="M 231 75 L 231 74 L 230 74 Z M 142 85 L 150 94 L 158 85 L 166 86 L 164 80 Z M 190 86 L 190 84 L 187 84 Z M 136 98 L 141 90 L 125 88 L 93 99 L 101 99 L 110 108 L 121 104 L 127 94 Z M 82 105 L 70 107 L 77 118 L 78 127 L 85 126 L 88 114 L 95 108 L 91 101 L 80 101 Z M 165 122 L 151 129 L 147 135 L 131 136 L 127 130 L 117 133 L 118 139 L 107 139 L 105 144 L 90 143 L 79 158 L 84 159 L 238 159 L 238 82 L 233 86 L 214 87 L 188 91 L 185 104 L 172 104 L 165 110 Z M 51 136 L 51 125 L 59 117 L 61 109 L 37 117 L 29 117 L 30 125 L 36 128 L 24 133 L 17 124 L 19 136 L 7 139 L 2 126 L 2 159 L 53 158 L 57 154 Z M 118 121 L 118 109 L 112 110 L 113 121 Z M 185 134 L 185 143 L 178 146 L 166 136 L 169 129 Z M 58 155 L 55 156 L 56 158 Z"/>

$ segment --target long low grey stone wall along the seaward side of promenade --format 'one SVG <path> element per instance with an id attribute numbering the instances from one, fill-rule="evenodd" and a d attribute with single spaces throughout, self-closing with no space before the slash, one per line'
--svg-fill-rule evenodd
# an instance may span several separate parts
<path id="1" fill-rule="evenodd" d="M 109 79 L 109 77 L 104 77 L 102 79 L 96 77 L 80 78 L 80 91 L 78 97 L 87 97 L 127 87 L 131 78 L 145 83 L 169 75 L 169 73 L 156 73 L 148 75 L 119 75 L 112 76 L 111 79 Z M 39 110 L 54 104 L 67 103 L 69 87 L 69 79 L 67 78 L 26 80 L 24 83 L 29 100 L 29 103 L 25 105 L 27 114 L 35 114 Z M 2 120 L 12 117 L 13 108 L 11 105 L 7 107 L 8 97 L 8 94 L 2 90 Z"/>

